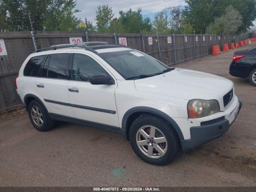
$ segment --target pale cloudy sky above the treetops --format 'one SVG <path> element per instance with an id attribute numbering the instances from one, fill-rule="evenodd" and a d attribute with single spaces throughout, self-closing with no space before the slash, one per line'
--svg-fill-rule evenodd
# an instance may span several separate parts
<path id="1" fill-rule="evenodd" d="M 76 0 L 76 9 L 81 12 L 76 13 L 76 17 L 87 18 L 88 21 L 96 24 L 95 15 L 99 5 L 108 4 L 112 7 L 114 17 L 118 17 L 119 10 L 127 11 L 142 9 L 142 15 L 154 20 L 155 13 L 169 6 L 186 5 L 184 0 Z"/>

